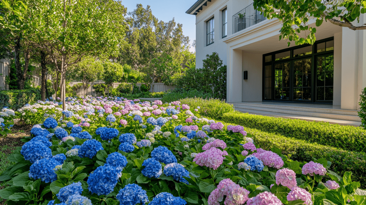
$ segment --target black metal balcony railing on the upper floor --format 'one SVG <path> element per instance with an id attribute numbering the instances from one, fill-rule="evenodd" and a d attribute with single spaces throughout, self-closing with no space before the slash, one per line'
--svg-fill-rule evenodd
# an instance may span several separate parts
<path id="1" fill-rule="evenodd" d="M 266 17 L 262 15 L 261 12 L 254 9 L 252 3 L 232 16 L 232 33 L 235 34 L 238 31 L 264 21 L 265 19 Z"/>

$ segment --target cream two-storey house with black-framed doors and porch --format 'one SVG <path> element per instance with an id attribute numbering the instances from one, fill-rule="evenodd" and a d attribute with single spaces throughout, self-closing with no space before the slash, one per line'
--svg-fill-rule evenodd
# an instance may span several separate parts
<path id="1" fill-rule="evenodd" d="M 198 0 L 196 67 L 217 52 L 227 65 L 227 102 L 254 114 L 359 125 L 366 87 L 366 30 L 323 22 L 314 45 L 279 41 L 278 19 L 254 10 L 253 0 Z M 366 23 L 361 14 L 359 23 Z M 315 27 L 315 19 L 310 20 Z M 246 78 L 246 79 L 245 79 Z"/>

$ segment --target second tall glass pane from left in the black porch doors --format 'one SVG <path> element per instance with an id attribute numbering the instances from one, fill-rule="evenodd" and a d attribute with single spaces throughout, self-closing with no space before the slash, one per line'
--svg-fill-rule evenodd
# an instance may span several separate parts
<path id="1" fill-rule="evenodd" d="M 275 64 L 275 99 L 290 100 L 290 63 Z"/>

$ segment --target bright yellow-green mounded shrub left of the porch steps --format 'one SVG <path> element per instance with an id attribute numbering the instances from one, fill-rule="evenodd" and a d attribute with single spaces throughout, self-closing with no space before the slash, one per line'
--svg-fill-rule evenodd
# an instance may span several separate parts
<path id="1" fill-rule="evenodd" d="M 194 109 L 199 107 L 201 115 L 221 119 L 224 113 L 234 111 L 234 106 L 219 99 L 186 98 L 181 99 L 181 103 L 188 104 Z"/>

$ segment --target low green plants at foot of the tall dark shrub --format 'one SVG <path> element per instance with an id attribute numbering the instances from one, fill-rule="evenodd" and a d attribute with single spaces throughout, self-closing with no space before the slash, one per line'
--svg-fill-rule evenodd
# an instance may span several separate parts
<path id="1" fill-rule="evenodd" d="M 184 98 L 211 98 L 212 95 L 208 94 L 208 93 L 204 93 L 202 91 L 197 91 L 197 90 L 183 90 L 183 89 L 175 89 L 173 91 L 168 92 L 167 94 L 164 95 L 164 97 L 161 99 L 161 101 L 163 102 L 173 102 L 176 100 L 181 100 Z"/>

